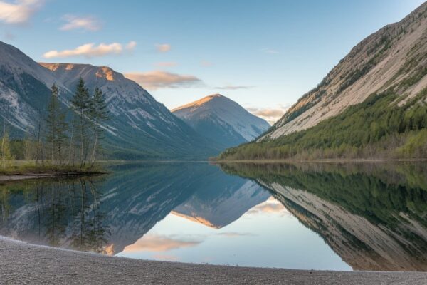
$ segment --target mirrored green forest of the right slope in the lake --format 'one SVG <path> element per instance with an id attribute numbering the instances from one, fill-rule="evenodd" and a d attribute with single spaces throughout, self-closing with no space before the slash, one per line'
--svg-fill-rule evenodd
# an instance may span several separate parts
<path id="1" fill-rule="evenodd" d="M 427 228 L 427 170 L 423 166 L 233 163 L 221 165 L 221 169 L 263 185 L 278 183 L 311 192 L 373 224 L 394 227 L 404 221 L 399 214 L 405 213 Z"/>

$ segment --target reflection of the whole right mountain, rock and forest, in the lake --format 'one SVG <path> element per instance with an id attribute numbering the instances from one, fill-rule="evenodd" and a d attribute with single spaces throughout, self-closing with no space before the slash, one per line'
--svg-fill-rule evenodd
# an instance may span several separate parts
<path id="1" fill-rule="evenodd" d="M 427 270 L 424 165 L 223 165 L 249 177 L 355 270 Z"/>

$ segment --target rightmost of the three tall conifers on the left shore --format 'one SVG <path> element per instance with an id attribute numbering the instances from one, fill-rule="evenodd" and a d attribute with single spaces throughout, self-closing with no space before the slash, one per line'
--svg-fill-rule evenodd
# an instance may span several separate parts
<path id="1" fill-rule="evenodd" d="M 97 151 L 100 150 L 100 141 L 103 138 L 104 126 L 102 126 L 105 121 L 109 119 L 109 111 L 107 108 L 107 103 L 105 102 L 105 96 L 100 90 L 100 88 L 95 88 L 95 94 L 90 100 L 90 119 L 93 123 L 93 150 L 90 161 L 95 162 L 97 157 Z"/>

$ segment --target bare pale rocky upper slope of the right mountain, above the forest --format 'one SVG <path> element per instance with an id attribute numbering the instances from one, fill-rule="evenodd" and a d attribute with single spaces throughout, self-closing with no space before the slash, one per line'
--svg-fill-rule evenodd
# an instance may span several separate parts
<path id="1" fill-rule="evenodd" d="M 399 103 L 427 87 L 427 3 L 365 38 L 261 140 L 310 128 L 389 88 Z M 424 99 L 425 100 L 425 99 Z"/>

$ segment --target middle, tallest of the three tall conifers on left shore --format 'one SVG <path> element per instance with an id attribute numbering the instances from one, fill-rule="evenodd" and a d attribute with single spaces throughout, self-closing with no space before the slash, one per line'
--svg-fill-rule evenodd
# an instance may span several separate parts
<path id="1" fill-rule="evenodd" d="M 89 133 L 89 111 L 90 97 L 88 88 L 85 87 L 85 81 L 80 77 L 74 96 L 71 99 L 73 110 L 75 111 L 75 142 L 80 143 L 80 167 L 84 167 L 86 157 L 88 156 L 88 133 Z"/>

